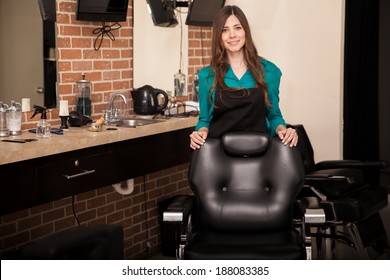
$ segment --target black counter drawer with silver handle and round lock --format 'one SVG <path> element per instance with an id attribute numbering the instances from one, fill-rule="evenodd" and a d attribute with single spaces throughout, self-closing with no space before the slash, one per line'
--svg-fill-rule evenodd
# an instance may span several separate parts
<path id="1" fill-rule="evenodd" d="M 38 199 L 41 203 L 71 196 L 115 182 L 115 165 L 111 151 L 61 159 L 39 166 Z"/>

